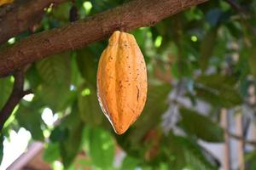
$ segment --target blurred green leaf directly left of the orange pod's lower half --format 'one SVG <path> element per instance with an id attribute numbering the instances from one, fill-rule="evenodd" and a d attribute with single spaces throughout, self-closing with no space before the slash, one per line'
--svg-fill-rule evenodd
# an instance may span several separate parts
<path id="1" fill-rule="evenodd" d="M 102 123 L 105 118 L 97 100 L 96 89 L 86 87 L 79 94 L 79 116 L 81 120 L 92 126 Z"/>

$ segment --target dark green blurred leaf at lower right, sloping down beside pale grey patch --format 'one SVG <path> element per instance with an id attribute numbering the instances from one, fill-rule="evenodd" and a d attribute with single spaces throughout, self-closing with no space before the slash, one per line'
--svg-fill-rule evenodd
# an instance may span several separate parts
<path id="1" fill-rule="evenodd" d="M 207 142 L 223 142 L 224 131 L 218 126 L 218 123 L 212 122 L 207 116 L 202 116 L 195 111 L 181 108 L 180 114 L 182 116 L 179 125 L 183 129 L 197 138 L 203 139 Z"/>

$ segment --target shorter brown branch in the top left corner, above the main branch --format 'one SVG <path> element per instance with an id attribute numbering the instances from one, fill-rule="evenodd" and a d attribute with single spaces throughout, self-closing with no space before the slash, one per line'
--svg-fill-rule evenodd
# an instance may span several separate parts
<path id="1" fill-rule="evenodd" d="M 15 1 L 0 8 L 0 44 L 28 30 L 42 19 L 44 8 L 67 0 Z"/>

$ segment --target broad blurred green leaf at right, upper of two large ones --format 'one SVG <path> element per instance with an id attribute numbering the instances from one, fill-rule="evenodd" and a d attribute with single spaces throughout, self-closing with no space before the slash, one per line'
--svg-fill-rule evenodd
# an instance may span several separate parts
<path id="1" fill-rule="evenodd" d="M 196 96 L 204 99 L 213 106 L 230 108 L 241 105 L 241 94 L 234 89 L 236 80 L 220 75 L 199 77 L 195 83 Z"/>

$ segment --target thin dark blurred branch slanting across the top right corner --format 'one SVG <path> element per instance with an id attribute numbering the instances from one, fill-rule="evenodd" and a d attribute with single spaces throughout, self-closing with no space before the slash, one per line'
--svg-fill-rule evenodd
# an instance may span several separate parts
<path id="1" fill-rule="evenodd" d="M 241 16 L 241 20 L 244 23 L 244 25 L 247 26 L 247 28 L 250 31 L 252 31 L 253 35 L 256 36 L 256 28 L 254 28 L 247 21 L 247 16 L 249 16 L 249 14 L 247 14 L 247 12 L 243 8 L 241 8 L 241 6 L 238 3 L 236 3 L 234 0 L 226 0 L 226 2 L 229 3 L 230 6 L 237 11 L 237 13 Z"/>

